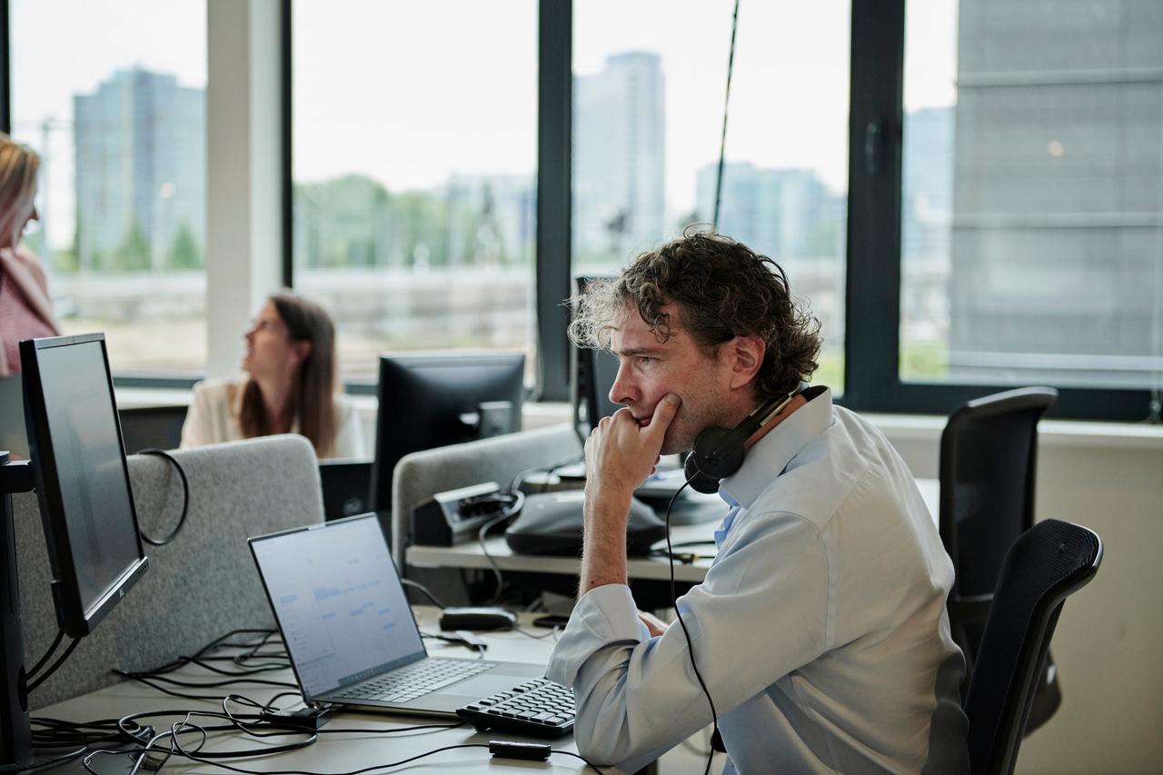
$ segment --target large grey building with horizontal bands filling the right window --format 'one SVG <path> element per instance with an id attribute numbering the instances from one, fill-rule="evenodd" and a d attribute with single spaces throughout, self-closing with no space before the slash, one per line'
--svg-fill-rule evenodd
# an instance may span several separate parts
<path id="1" fill-rule="evenodd" d="M 1153 2 L 961 2 L 950 377 L 1149 386 L 1160 41 Z"/>

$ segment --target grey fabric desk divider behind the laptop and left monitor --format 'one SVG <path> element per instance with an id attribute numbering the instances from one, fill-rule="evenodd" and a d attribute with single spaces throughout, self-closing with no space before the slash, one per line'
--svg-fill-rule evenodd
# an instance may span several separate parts
<path id="1" fill-rule="evenodd" d="M 273 627 L 247 539 L 322 521 L 319 464 L 298 435 L 173 453 L 190 478 L 190 511 L 172 543 L 145 545 L 149 571 L 30 698 L 44 708 L 117 683 L 114 667 L 143 670 L 193 654 L 235 628 Z M 160 538 L 181 514 L 181 479 L 162 457 L 131 455 L 137 518 Z M 35 661 L 57 632 L 51 571 L 35 493 L 13 498 L 24 654 Z"/>

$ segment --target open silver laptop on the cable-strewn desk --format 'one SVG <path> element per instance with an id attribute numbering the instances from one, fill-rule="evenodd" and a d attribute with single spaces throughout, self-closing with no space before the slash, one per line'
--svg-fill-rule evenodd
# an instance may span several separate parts
<path id="1" fill-rule="evenodd" d="M 428 656 L 376 514 L 250 539 L 309 705 L 456 717 L 543 664 Z"/>

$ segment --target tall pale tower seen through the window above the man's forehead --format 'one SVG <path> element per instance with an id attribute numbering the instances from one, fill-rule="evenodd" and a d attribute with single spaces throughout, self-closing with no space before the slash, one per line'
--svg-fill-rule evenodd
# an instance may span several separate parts
<path id="1" fill-rule="evenodd" d="M 663 237 L 662 59 L 630 51 L 573 79 L 573 255 L 625 261 Z"/>

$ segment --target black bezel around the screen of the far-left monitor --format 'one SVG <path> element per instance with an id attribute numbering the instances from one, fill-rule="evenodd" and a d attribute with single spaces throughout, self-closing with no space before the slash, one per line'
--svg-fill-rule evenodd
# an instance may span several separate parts
<path id="1" fill-rule="evenodd" d="M 129 514 L 134 522 L 137 560 L 131 562 L 116 581 L 86 609 L 81 602 L 77 566 L 70 542 L 69 522 L 64 511 L 60 478 L 57 472 L 52 433 L 44 400 L 44 386 L 41 381 L 40 356 L 45 350 L 93 342 L 100 344 L 101 360 L 105 364 L 106 390 L 108 390 L 113 422 L 117 432 L 117 445 L 121 449 L 121 471 L 124 477 L 126 491 L 129 495 Z M 102 333 L 24 340 L 20 343 L 20 355 L 21 370 L 24 375 L 24 424 L 28 429 L 28 446 L 33 461 L 37 500 L 41 506 L 41 521 L 44 526 L 44 539 L 52 569 L 52 600 L 57 610 L 57 620 L 65 634 L 71 638 L 81 638 L 90 634 L 108 616 L 109 611 L 121 602 L 126 592 L 137 583 L 149 567 L 149 559 L 145 556 L 141 540 L 133 485 L 129 479 L 129 464 L 126 460 L 124 441 L 121 434 L 121 419 L 117 415 L 113 376 L 109 372 L 109 355 Z"/>

